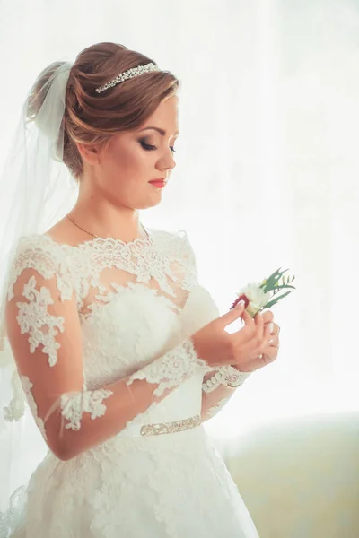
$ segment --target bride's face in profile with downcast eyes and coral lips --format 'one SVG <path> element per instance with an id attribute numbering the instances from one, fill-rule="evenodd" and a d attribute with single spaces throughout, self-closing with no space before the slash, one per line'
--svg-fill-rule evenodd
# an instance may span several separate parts
<path id="1" fill-rule="evenodd" d="M 145 209 L 161 202 L 163 189 L 150 181 L 167 182 L 176 166 L 173 146 L 179 134 L 178 105 L 175 95 L 162 100 L 143 126 L 116 134 L 99 153 L 94 170 L 96 190 L 110 203 Z"/>

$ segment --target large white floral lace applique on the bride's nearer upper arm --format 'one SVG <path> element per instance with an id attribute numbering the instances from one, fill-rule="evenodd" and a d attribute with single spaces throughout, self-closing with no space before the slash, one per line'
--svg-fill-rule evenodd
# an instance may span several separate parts
<path id="1" fill-rule="evenodd" d="M 29 303 L 16 303 L 19 314 L 16 317 L 22 334 L 29 333 L 30 352 L 33 353 L 39 344 L 43 344 L 43 352 L 48 354 L 49 366 L 57 363 L 57 350 L 60 344 L 56 342 L 58 331 L 64 332 L 65 319 L 62 316 L 51 316 L 48 305 L 54 304 L 50 291 L 44 286 L 36 289 L 36 279 L 31 276 L 24 285 L 22 295 Z"/>

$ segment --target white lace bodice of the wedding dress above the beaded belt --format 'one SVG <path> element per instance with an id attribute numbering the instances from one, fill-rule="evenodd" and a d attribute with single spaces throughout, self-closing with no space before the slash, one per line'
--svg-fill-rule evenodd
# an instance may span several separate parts
<path id="1" fill-rule="evenodd" d="M 87 389 L 133 374 L 218 316 L 214 299 L 197 282 L 195 256 L 183 231 L 149 230 L 148 239 L 93 239 L 78 247 L 59 245 L 46 235 L 24 238 L 13 282 L 34 257 L 43 275 L 57 271 L 64 297 L 75 296 Z M 59 319 L 51 323 L 60 324 Z M 53 360 L 55 356 L 56 350 Z M 198 414 L 203 375 L 198 369 L 137 421 L 174 421 Z"/>

